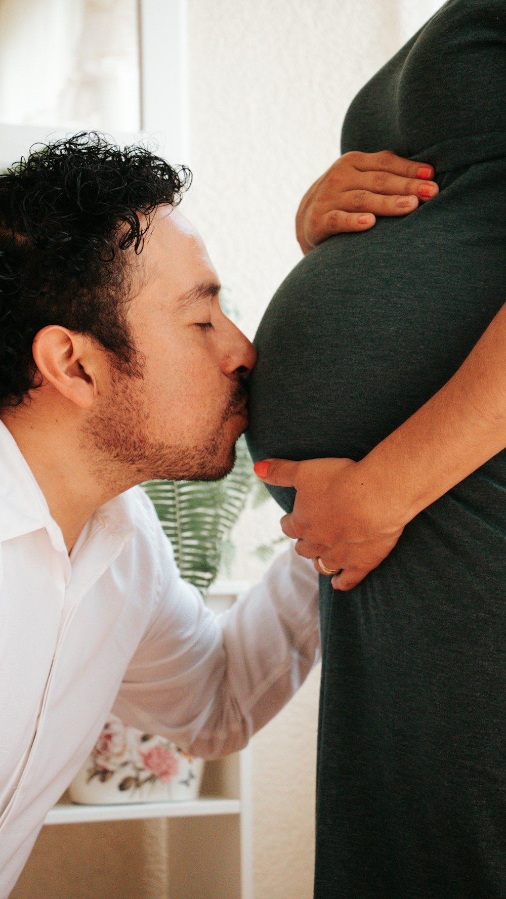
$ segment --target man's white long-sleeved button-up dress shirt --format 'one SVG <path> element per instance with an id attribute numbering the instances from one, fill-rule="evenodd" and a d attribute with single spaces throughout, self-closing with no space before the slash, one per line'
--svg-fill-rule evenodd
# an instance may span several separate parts
<path id="1" fill-rule="evenodd" d="M 240 749 L 319 657 L 317 575 L 290 548 L 215 616 L 179 577 L 140 487 L 106 503 L 70 556 L 0 423 L 0 896 L 111 708 L 212 758 Z"/>

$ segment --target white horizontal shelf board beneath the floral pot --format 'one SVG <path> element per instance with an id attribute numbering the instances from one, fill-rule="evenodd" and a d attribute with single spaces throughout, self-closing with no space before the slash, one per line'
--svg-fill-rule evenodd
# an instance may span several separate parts
<path id="1" fill-rule="evenodd" d="M 80 806 L 62 797 L 46 815 L 45 824 L 79 824 L 142 818 L 185 818 L 202 814 L 240 814 L 239 799 L 201 798 L 184 802 L 119 803 L 116 806 Z"/>

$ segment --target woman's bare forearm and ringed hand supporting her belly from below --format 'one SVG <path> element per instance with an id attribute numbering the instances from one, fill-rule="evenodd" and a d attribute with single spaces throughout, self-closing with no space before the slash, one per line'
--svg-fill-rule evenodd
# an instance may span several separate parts
<path id="1" fill-rule="evenodd" d="M 341 571 L 335 589 L 360 583 L 408 521 L 506 447 L 505 363 L 503 306 L 447 384 L 359 462 L 257 463 L 268 484 L 297 489 L 282 528 L 300 555 Z"/>

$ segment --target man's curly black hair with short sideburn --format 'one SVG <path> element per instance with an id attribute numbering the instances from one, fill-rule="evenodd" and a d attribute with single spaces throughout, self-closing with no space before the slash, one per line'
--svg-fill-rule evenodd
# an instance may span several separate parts
<path id="1" fill-rule="evenodd" d="M 0 174 L 0 408 L 38 387 L 31 345 L 46 325 L 93 337 L 139 373 L 124 251 L 141 252 L 150 214 L 190 183 L 185 166 L 96 132 L 32 147 Z"/>

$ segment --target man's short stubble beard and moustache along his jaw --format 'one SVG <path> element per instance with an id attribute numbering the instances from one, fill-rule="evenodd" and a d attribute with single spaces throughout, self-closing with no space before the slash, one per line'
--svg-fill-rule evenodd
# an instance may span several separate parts
<path id="1" fill-rule="evenodd" d="M 244 404 L 242 382 L 235 386 L 209 440 L 202 445 L 169 445 L 149 437 L 142 378 L 113 378 L 113 403 L 88 419 L 84 432 L 88 459 L 102 482 L 117 481 L 119 492 L 148 480 L 216 481 L 235 464 L 235 441 L 226 446 L 226 422 Z"/>

